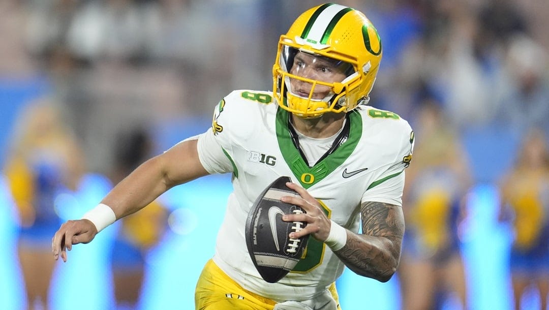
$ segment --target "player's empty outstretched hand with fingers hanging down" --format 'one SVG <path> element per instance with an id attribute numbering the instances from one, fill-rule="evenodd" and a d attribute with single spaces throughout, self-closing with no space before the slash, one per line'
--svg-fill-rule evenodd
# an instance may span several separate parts
<path id="1" fill-rule="evenodd" d="M 52 252 L 54 260 L 59 259 L 59 255 L 64 262 L 67 261 L 66 250 L 72 250 L 72 245 L 79 243 L 89 243 L 97 234 L 96 226 L 88 219 L 79 219 L 77 221 L 67 221 L 61 227 L 52 239 Z"/>

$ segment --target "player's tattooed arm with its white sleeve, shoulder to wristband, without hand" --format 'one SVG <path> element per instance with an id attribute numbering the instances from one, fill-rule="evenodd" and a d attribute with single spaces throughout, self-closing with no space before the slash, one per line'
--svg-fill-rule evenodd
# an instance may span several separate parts
<path id="1" fill-rule="evenodd" d="M 389 281 L 399 266 L 405 230 L 401 206 L 405 179 L 403 170 L 412 160 L 414 134 L 406 122 L 401 124 L 405 125 L 405 129 L 400 132 L 409 134 L 399 134 L 401 148 L 395 164 L 380 176 L 380 183 L 370 185 L 372 190 L 367 190 L 363 196 L 362 234 L 345 229 L 345 245 L 332 249 L 355 273 L 382 282 Z"/>

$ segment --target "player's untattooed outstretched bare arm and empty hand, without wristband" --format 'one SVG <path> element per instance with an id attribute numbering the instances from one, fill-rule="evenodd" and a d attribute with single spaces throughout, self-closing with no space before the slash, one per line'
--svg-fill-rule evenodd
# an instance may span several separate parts
<path id="1" fill-rule="evenodd" d="M 145 161 L 117 184 L 102 204 L 109 206 L 120 219 L 141 210 L 170 188 L 205 176 L 208 172 L 200 163 L 197 140 L 184 140 L 165 153 Z M 61 225 L 52 240 L 55 260 L 66 262 L 66 250 L 72 245 L 89 243 L 97 234 L 97 227 L 88 219 L 68 221 Z"/>

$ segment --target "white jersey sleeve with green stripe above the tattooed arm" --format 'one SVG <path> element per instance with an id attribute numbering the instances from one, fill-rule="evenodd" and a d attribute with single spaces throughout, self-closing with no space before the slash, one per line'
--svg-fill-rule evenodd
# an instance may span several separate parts
<path id="1" fill-rule="evenodd" d="M 391 205 L 402 206 L 402 191 L 404 190 L 404 170 L 412 159 L 414 135 L 412 128 L 406 126 L 400 134 L 399 149 L 395 159 L 380 174 L 376 181 L 368 185 L 362 195 L 362 202 L 379 201 Z"/>

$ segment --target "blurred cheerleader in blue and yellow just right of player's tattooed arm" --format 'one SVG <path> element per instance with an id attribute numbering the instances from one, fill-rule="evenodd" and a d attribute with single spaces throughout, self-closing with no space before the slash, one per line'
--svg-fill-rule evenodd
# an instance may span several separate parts
<path id="1" fill-rule="evenodd" d="M 406 171 L 406 232 L 399 267 L 402 309 L 441 309 L 449 292 L 468 307 L 458 225 L 470 186 L 469 166 L 440 106 L 423 101 L 417 145 Z"/>

